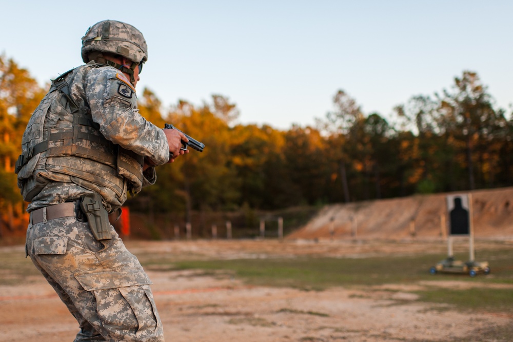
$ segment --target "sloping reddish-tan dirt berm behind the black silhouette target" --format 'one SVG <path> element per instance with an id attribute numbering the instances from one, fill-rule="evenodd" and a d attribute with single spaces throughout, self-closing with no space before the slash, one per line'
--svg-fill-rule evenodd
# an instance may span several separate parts
<path id="1" fill-rule="evenodd" d="M 405 198 L 329 205 L 287 238 L 445 237 L 447 195 L 470 194 L 476 237 L 513 235 L 513 188 L 417 195 Z"/>

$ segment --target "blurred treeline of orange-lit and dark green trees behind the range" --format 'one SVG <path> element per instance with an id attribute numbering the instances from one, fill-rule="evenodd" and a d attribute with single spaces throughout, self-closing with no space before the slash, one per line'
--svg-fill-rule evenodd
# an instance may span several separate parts
<path id="1" fill-rule="evenodd" d="M 4 223 L 24 204 L 13 173 L 31 112 L 45 94 L 27 70 L 0 56 L 0 206 Z M 236 124 L 238 108 L 213 95 L 164 108 L 139 94 L 143 116 L 172 123 L 205 143 L 157 169 L 157 185 L 130 198 L 132 210 L 182 212 L 279 209 L 512 185 L 513 121 L 475 72 L 449 90 L 412 96 L 385 118 L 363 113 L 343 90 L 314 127 Z M 284 113 L 283 115 L 287 115 Z"/>

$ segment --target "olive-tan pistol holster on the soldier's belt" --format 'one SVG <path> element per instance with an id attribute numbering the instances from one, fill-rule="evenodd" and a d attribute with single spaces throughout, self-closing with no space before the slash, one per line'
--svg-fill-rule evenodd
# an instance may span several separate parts
<path id="1" fill-rule="evenodd" d="M 109 215 L 103 207 L 102 196 L 97 193 L 84 195 L 80 207 L 87 217 L 87 222 L 96 240 L 111 239 Z"/>

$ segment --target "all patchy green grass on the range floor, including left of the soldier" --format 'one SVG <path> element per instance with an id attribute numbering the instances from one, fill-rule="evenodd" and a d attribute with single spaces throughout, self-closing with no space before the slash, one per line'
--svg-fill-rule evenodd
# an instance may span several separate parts
<path id="1" fill-rule="evenodd" d="M 247 284 L 292 287 L 305 291 L 322 291 L 330 287 L 362 289 L 370 293 L 372 286 L 383 284 L 414 285 L 422 281 L 425 290 L 415 291 L 419 301 L 432 303 L 427 310 L 463 310 L 471 312 L 487 312 L 513 314 L 513 249 L 506 246 L 490 250 L 479 250 L 477 261 L 488 261 L 491 274 L 478 275 L 474 278 L 466 274 L 430 275 L 429 268 L 446 255 L 412 254 L 383 255 L 381 257 L 362 258 L 260 258 L 236 260 L 196 260 L 198 256 L 190 255 L 190 259 L 176 261 L 175 256 L 166 253 L 155 254 L 152 251 L 138 252 L 137 257 L 146 269 L 168 272 L 173 270 L 196 269 L 208 276 L 230 276 L 243 280 Z M 466 261 L 468 253 L 456 255 L 457 259 Z M 31 277 L 40 273 L 35 269 L 24 252 L 3 251 L 0 253 L 0 285 L 15 286 L 27 283 Z M 465 290 L 443 288 L 437 286 L 439 281 L 463 281 L 468 284 L 479 283 L 478 287 Z M 487 285 L 490 285 L 487 287 Z M 505 287 L 501 288 L 502 285 Z M 493 286 L 493 287 L 492 287 Z M 413 292 L 413 291 L 412 291 Z M 399 302 L 398 302 L 399 304 Z M 439 304 L 443 304 L 440 306 Z M 325 315 L 322 312 L 299 312 L 290 308 L 281 312 L 294 312 L 308 315 Z M 272 323 L 254 317 L 232 319 L 231 324 L 269 326 Z M 487 336 L 487 340 L 512 340 L 513 328 L 492 326 L 475 332 L 476 336 Z M 304 340 L 316 340 L 305 337 Z M 462 342 L 473 342 L 472 337 L 460 339 Z"/>

